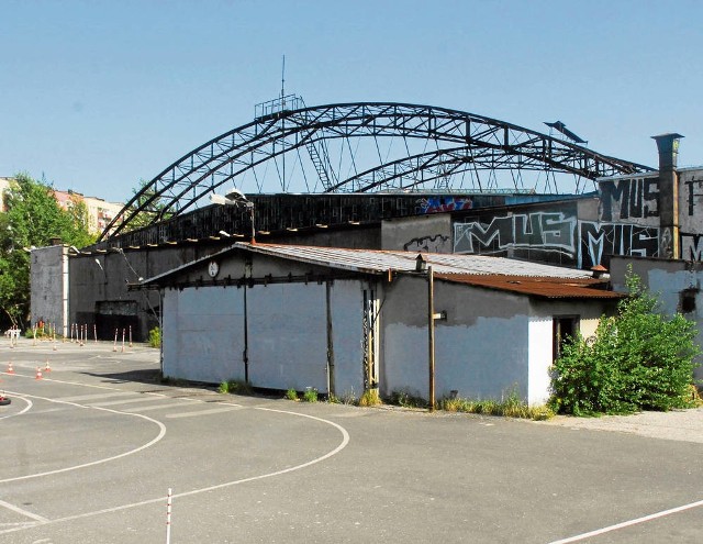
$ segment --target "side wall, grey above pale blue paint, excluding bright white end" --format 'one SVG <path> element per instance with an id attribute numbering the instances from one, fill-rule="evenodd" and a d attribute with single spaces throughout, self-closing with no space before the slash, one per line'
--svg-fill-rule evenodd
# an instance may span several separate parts
<path id="1" fill-rule="evenodd" d="M 382 318 L 381 392 L 405 390 L 427 398 L 427 287 L 424 277 L 386 286 Z M 515 387 L 527 397 L 526 297 L 464 285 L 435 282 L 435 393 L 498 398 Z M 506 342 L 510 338 L 510 342 Z"/>

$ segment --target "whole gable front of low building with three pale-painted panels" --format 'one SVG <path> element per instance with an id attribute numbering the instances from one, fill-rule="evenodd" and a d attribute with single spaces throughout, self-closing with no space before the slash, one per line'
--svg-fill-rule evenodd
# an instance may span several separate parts
<path id="1" fill-rule="evenodd" d="M 246 259 L 238 253 L 219 264 L 216 278 L 246 275 L 252 285 L 209 286 L 203 263 L 185 270 L 178 280 L 205 285 L 165 289 L 167 376 L 205 382 L 244 380 L 246 352 L 253 386 L 298 391 L 313 387 L 327 393 L 327 357 L 332 357 L 336 395 L 361 395 L 364 281 L 304 282 L 300 278 L 305 274 L 322 270 L 265 255 Z M 289 273 L 295 279 L 280 282 Z"/>

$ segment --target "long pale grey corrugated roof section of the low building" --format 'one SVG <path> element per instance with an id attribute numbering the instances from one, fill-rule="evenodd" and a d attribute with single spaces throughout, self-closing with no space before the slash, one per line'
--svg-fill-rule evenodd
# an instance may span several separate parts
<path id="1" fill-rule="evenodd" d="M 346 270 L 384 274 L 389 269 L 414 271 L 417 252 L 347 249 L 342 247 L 300 246 L 282 244 L 249 244 L 237 242 L 235 247 L 255 253 L 330 266 Z M 590 278 L 591 273 L 576 268 L 515 260 L 487 255 L 423 253 L 435 274 L 512 275 L 522 277 Z"/>

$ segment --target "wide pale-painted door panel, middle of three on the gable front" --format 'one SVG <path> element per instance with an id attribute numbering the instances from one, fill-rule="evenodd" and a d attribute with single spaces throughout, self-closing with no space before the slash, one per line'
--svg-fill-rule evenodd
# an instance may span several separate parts
<path id="1" fill-rule="evenodd" d="M 327 392 L 325 286 L 271 284 L 247 289 L 249 381 Z"/>

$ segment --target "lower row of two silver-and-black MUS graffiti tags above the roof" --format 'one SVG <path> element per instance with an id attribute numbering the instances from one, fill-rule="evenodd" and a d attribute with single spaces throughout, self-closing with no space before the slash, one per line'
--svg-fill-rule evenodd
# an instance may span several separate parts
<path id="1" fill-rule="evenodd" d="M 703 242 L 701 243 L 703 249 Z M 454 253 L 506 254 L 528 249 L 558 253 L 579 268 L 602 264 L 607 255 L 659 255 L 659 227 L 579 221 L 562 212 L 534 212 L 454 225 Z"/>

